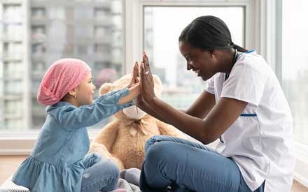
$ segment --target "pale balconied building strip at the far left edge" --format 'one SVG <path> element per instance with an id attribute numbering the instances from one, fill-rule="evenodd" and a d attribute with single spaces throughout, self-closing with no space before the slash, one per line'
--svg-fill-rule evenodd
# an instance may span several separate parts
<path id="1" fill-rule="evenodd" d="M 27 128 L 27 21 L 25 1 L 0 2 L 0 128 Z"/>

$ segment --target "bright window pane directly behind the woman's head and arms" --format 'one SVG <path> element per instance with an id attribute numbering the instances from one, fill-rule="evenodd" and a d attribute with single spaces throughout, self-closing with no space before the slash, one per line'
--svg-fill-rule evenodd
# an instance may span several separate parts
<path id="1" fill-rule="evenodd" d="M 214 15 L 229 27 L 232 40 L 244 46 L 244 7 L 241 6 L 146 6 L 144 8 L 144 49 L 151 71 L 163 83 L 162 99 L 176 108 L 188 108 L 206 86 L 201 78 L 186 70 L 179 52 L 179 35 L 196 17 Z"/>

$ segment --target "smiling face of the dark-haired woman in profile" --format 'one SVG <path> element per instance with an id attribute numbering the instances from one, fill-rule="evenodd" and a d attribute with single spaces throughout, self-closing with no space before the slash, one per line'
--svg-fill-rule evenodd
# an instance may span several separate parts
<path id="1" fill-rule="evenodd" d="M 187 62 L 187 70 L 193 70 L 206 81 L 218 72 L 216 59 L 209 51 L 202 51 L 189 43 L 180 41 L 179 50 Z"/>

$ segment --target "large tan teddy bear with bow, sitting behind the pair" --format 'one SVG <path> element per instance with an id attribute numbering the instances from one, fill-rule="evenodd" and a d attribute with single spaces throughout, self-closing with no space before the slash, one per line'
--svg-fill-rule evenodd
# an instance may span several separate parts
<path id="1" fill-rule="evenodd" d="M 115 89 L 127 87 L 132 75 L 127 74 L 113 83 L 104 83 L 99 94 L 106 94 Z M 162 82 L 153 75 L 154 92 L 160 97 Z M 119 170 L 141 168 L 144 161 L 144 145 L 153 135 L 171 135 L 177 138 L 189 139 L 185 133 L 174 126 L 165 124 L 133 105 L 117 112 L 115 120 L 104 126 L 90 145 L 91 153 L 98 153 L 103 158 L 114 161 Z"/>

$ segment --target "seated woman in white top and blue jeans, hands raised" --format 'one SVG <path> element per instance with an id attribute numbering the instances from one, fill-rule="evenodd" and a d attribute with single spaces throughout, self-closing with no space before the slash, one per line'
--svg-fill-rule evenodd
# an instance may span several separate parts
<path id="1" fill-rule="evenodd" d="M 146 142 L 143 191 L 290 191 L 292 116 L 276 75 L 254 50 L 232 43 L 218 17 L 197 17 L 179 36 L 179 50 L 208 87 L 188 110 L 157 98 L 144 53 L 137 105 L 204 145 L 155 136 Z"/>

